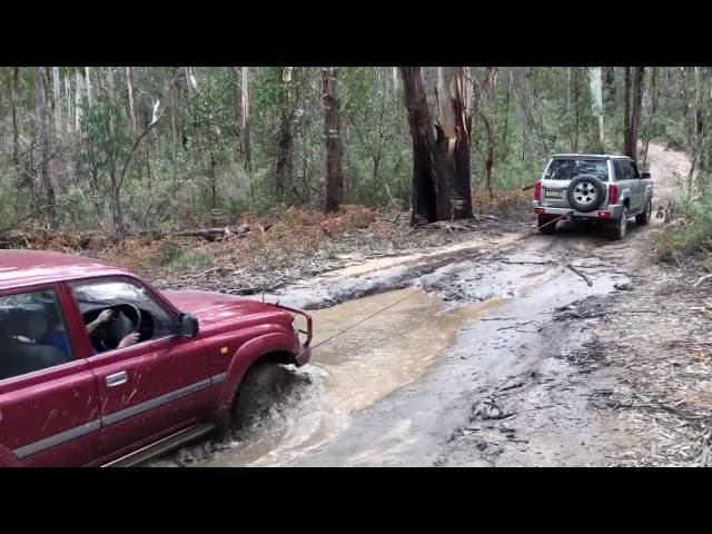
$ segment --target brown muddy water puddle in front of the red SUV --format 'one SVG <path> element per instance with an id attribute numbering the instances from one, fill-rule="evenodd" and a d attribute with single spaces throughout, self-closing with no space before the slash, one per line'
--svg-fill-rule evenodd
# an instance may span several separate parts
<path id="1" fill-rule="evenodd" d="M 284 465 L 328 443 L 352 414 L 421 378 L 446 350 L 454 334 L 510 298 L 455 307 L 425 291 L 406 288 L 350 300 L 313 313 L 314 345 L 389 304 L 383 314 L 314 352 L 312 377 L 299 399 L 277 411 L 253 437 L 235 443 L 204 466 Z M 306 398 L 305 398 L 306 396 Z"/>

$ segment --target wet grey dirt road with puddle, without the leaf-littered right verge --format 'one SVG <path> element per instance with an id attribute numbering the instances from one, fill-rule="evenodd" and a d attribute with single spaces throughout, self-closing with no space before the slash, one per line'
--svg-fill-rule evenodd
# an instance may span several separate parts
<path id="1" fill-rule="evenodd" d="M 675 162 L 660 147 L 651 160 L 662 204 L 672 187 L 664 165 Z M 316 349 L 312 365 L 293 372 L 308 380 L 247 439 L 191 464 L 606 465 L 632 436 L 590 398 L 619 369 L 577 355 L 593 340 L 603 297 L 625 298 L 617 288 L 654 270 L 660 226 L 631 224 L 624 241 L 571 224 L 555 236 L 473 236 L 362 261 L 273 296 L 323 308 L 314 312 L 318 344 L 424 289 Z M 486 254 L 495 247 L 500 254 Z"/>

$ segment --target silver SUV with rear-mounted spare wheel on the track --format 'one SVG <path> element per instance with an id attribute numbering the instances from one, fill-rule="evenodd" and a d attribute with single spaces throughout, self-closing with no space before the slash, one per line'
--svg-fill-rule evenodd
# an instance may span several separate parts
<path id="1" fill-rule="evenodd" d="M 553 156 L 534 191 L 534 212 L 543 234 L 553 234 L 556 222 L 552 221 L 561 216 L 607 228 L 615 239 L 625 237 L 633 216 L 639 225 L 650 222 L 650 172 L 639 172 L 626 156 Z"/>

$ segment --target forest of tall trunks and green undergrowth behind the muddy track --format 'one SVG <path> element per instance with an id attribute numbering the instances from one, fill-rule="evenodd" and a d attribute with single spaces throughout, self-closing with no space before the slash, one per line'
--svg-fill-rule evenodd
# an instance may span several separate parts
<path id="1" fill-rule="evenodd" d="M 120 241 L 344 205 L 466 219 L 553 152 L 645 168 L 657 140 L 691 157 L 680 206 L 699 224 L 674 241 L 696 246 L 710 87 L 702 67 L 6 67 L 0 231 Z"/>

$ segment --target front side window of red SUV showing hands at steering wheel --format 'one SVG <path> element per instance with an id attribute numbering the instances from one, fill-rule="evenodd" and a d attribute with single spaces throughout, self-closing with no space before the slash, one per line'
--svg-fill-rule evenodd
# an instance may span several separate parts
<path id="1" fill-rule="evenodd" d="M 101 280 L 72 287 L 95 354 L 170 336 L 171 316 L 146 288 L 127 280 Z"/>

